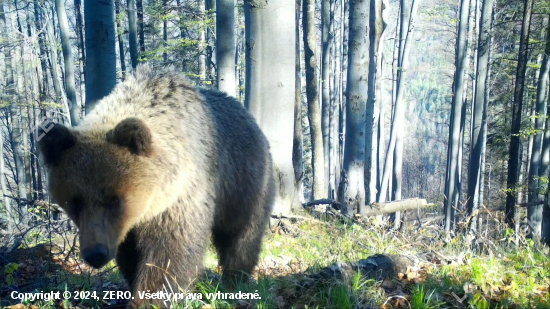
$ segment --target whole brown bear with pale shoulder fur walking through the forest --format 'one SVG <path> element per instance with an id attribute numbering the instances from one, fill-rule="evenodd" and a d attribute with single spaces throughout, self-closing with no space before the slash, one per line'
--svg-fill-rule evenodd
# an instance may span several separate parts
<path id="1" fill-rule="evenodd" d="M 138 291 L 192 289 L 210 237 L 224 274 L 255 267 L 274 178 L 269 144 L 236 99 L 142 66 L 77 127 L 42 128 L 51 197 L 89 265 L 116 257 L 130 306 L 149 302 Z"/>

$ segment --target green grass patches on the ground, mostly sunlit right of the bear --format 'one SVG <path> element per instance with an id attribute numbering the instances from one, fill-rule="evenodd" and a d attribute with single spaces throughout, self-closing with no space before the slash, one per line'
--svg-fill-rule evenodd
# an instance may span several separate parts
<path id="1" fill-rule="evenodd" d="M 208 275 L 198 278 L 194 293 L 201 300 L 187 300 L 178 308 L 550 308 L 549 249 L 524 239 L 498 223 L 485 245 L 473 246 L 458 233 L 446 239 L 437 227 L 389 232 L 372 222 L 365 224 L 303 221 L 292 226 L 293 233 L 268 233 L 260 263 L 252 280 L 240 280 L 229 288 L 219 280 L 217 257 L 210 249 L 205 257 Z M 43 239 L 34 235 L 34 239 Z M 377 281 L 352 269 L 347 276 L 323 277 L 323 270 L 335 263 L 355 263 L 374 254 L 414 257 L 406 274 Z M 120 289 L 124 282 L 113 265 L 88 274 L 61 274 L 50 280 L 44 291 Z M 23 269 L 17 270 L 21 279 Z M 98 275 L 100 274 L 100 275 Z M 217 274 L 217 275 L 216 275 Z M 52 275 L 52 274 L 50 274 Z M 63 276 L 61 276 L 63 275 Z M 57 277 L 55 277 L 57 278 Z M 14 286 L 24 284 L 21 280 Z M 8 288 L 2 283 L 3 290 Z M 206 298 L 208 293 L 258 293 L 261 299 L 234 300 Z M 460 299 L 460 300 L 459 300 Z M 461 301 L 463 303 L 461 303 Z M 53 308 L 59 304 L 34 305 Z M 98 308 L 98 302 L 76 304 Z M 75 304 L 71 304 L 75 306 Z"/>

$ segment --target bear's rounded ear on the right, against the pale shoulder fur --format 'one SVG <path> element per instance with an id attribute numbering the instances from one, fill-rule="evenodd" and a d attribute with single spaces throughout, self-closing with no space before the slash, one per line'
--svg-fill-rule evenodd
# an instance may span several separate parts
<path id="1" fill-rule="evenodd" d="M 126 147 L 138 156 L 147 156 L 152 152 L 151 131 L 142 120 L 134 117 L 122 120 L 107 132 L 107 141 Z"/>

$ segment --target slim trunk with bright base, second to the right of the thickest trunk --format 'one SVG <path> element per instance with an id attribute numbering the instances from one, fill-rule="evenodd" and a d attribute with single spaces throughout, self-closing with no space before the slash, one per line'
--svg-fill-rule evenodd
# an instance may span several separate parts
<path id="1" fill-rule="evenodd" d="M 308 107 L 309 130 L 311 136 L 311 166 L 313 169 L 312 199 L 327 197 L 325 186 L 325 158 L 323 150 L 322 112 L 319 107 L 319 74 L 317 73 L 316 46 L 317 35 L 315 27 L 315 1 L 302 2 L 302 24 L 304 36 L 304 54 L 306 69 L 306 96 Z"/>

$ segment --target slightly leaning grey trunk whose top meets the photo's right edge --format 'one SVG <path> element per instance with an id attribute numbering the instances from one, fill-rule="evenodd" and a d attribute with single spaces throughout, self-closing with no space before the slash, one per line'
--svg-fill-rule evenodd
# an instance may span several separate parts
<path id="1" fill-rule="evenodd" d="M 536 94 L 536 114 L 535 114 L 535 131 L 533 145 L 531 150 L 531 164 L 529 168 L 529 196 L 528 202 L 538 202 L 544 200 L 544 195 L 540 192 L 541 177 L 547 177 L 541 173 L 542 159 L 542 140 L 544 135 L 544 125 L 546 122 L 546 92 L 548 88 L 548 74 L 550 72 L 550 64 L 548 57 L 550 55 L 550 19 L 545 33 L 546 47 L 542 54 L 542 64 L 540 67 L 539 78 L 537 81 Z M 527 220 L 533 237 L 542 236 L 542 211 L 543 205 L 527 207 Z"/>

